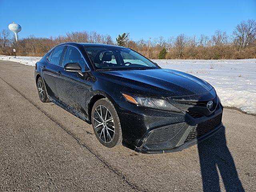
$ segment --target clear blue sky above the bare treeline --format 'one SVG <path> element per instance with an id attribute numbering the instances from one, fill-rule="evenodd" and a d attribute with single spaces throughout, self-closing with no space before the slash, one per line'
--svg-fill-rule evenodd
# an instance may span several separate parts
<path id="1" fill-rule="evenodd" d="M 256 19 L 256 0 L 0 0 L 0 30 L 16 22 L 19 37 L 50 37 L 72 31 L 130 32 L 133 40 L 164 36 L 232 34 L 243 20 Z"/>

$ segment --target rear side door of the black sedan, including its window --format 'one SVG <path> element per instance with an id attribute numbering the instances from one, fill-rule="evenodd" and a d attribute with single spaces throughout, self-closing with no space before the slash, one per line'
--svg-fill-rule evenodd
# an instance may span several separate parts
<path id="1" fill-rule="evenodd" d="M 65 46 L 59 46 L 52 50 L 52 52 L 46 58 L 46 65 L 42 68 L 42 74 L 47 93 L 51 98 L 55 100 L 59 99 L 56 88 L 56 72 L 60 68 L 59 64 L 64 53 L 64 48 Z"/>

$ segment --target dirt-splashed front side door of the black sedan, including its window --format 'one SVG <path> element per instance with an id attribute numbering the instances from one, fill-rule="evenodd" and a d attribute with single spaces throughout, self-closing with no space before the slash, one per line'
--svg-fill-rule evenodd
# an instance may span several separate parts
<path id="1" fill-rule="evenodd" d="M 82 72 L 88 71 L 88 65 L 80 51 L 74 46 L 67 46 L 62 66 L 58 70 L 57 91 L 59 101 L 73 114 L 86 119 L 88 95 L 92 90 L 93 81 L 78 75 L 76 72 L 64 70 L 64 65 L 70 62 L 77 62 Z"/>

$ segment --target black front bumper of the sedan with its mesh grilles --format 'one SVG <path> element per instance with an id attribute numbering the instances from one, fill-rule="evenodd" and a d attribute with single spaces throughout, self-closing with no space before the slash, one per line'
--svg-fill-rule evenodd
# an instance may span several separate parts
<path id="1" fill-rule="evenodd" d="M 116 109 L 123 145 L 142 153 L 181 151 L 216 134 L 223 126 L 220 103 L 210 116 L 201 117 L 143 108 L 128 102 L 116 104 Z"/>

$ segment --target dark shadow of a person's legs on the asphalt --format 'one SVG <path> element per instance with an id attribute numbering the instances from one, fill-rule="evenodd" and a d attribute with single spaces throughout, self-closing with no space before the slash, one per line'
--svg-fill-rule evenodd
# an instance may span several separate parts
<path id="1" fill-rule="evenodd" d="M 226 144 L 225 127 L 198 144 L 204 192 L 222 191 L 220 179 L 227 192 L 243 192 L 232 155 Z M 220 177 L 219 177 L 220 175 Z"/>

